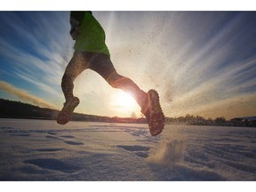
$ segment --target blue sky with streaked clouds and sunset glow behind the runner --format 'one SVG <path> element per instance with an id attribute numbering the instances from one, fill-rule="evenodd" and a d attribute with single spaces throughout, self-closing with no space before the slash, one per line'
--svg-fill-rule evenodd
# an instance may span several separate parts
<path id="1" fill-rule="evenodd" d="M 156 89 L 165 116 L 256 116 L 256 12 L 92 12 L 117 72 Z M 73 55 L 69 12 L 0 12 L 0 98 L 61 109 Z M 131 96 L 92 70 L 75 112 L 140 116 Z"/>

